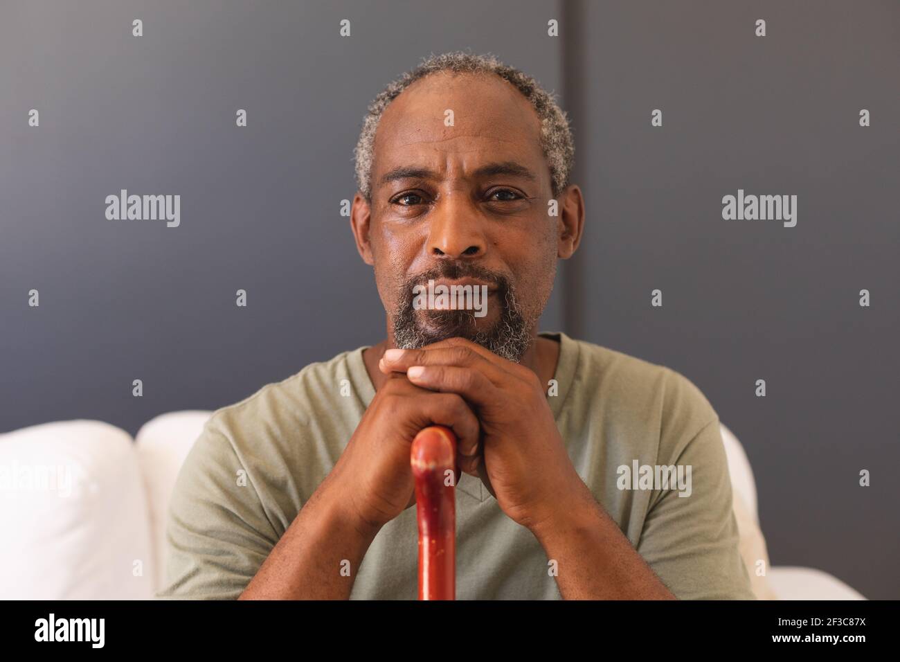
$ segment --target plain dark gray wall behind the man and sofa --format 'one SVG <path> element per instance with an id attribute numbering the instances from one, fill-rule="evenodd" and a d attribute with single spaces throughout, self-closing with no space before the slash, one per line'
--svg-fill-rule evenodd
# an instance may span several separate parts
<path id="1" fill-rule="evenodd" d="M 4 2 L 0 431 L 134 433 L 381 340 L 338 214 L 353 146 L 389 80 L 454 49 L 572 117 L 588 221 L 543 328 L 688 376 L 743 441 L 772 563 L 898 597 L 893 0 Z M 181 195 L 181 226 L 107 221 L 121 188 Z M 797 227 L 723 221 L 738 188 L 797 195 Z"/>

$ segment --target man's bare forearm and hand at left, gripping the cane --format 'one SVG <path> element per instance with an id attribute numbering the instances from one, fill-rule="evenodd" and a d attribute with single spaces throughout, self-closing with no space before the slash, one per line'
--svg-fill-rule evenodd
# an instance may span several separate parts
<path id="1" fill-rule="evenodd" d="M 457 450 L 478 448 L 478 419 L 462 397 L 392 376 L 375 394 L 347 448 L 269 553 L 241 599 L 346 599 L 378 531 L 415 501 L 412 440 L 434 423 L 453 429 Z M 471 458 L 457 457 L 472 468 Z M 455 476 L 458 478 L 459 476 Z M 352 574 L 339 572 L 349 561 Z"/>

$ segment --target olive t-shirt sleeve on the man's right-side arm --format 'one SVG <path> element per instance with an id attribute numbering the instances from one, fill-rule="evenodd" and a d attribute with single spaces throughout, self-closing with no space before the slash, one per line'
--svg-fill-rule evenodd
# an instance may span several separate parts
<path id="1" fill-rule="evenodd" d="M 685 478 L 690 467 L 690 480 L 670 483 L 669 489 L 654 495 L 637 551 L 677 598 L 755 599 L 738 545 L 718 417 L 687 443 L 680 440 L 661 445 L 662 449 L 671 450 L 660 464 L 674 465 L 676 470 L 684 467 Z M 681 485 L 687 489 L 680 489 Z"/>

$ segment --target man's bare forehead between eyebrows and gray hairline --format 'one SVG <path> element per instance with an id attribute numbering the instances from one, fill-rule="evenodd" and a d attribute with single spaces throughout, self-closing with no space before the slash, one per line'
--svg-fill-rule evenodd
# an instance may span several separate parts
<path id="1" fill-rule="evenodd" d="M 518 90 L 497 76 L 435 74 L 413 83 L 385 109 L 374 170 L 439 162 L 448 152 L 491 160 L 543 159 L 540 120 Z M 482 153 L 482 154 L 480 154 Z"/>

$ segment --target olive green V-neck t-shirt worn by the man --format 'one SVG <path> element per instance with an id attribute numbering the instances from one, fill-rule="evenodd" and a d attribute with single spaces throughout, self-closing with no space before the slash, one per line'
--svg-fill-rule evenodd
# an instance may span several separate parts
<path id="1" fill-rule="evenodd" d="M 564 333 L 541 335 L 561 343 L 547 400 L 572 464 L 632 546 L 679 598 L 753 599 L 707 398 L 668 367 Z M 374 397 L 363 349 L 212 414 L 175 484 L 157 597 L 228 599 L 244 590 Z M 681 482 L 654 468 L 677 466 Z M 416 599 L 418 540 L 411 507 L 379 531 L 350 597 Z M 551 568 L 531 531 L 500 510 L 479 478 L 463 474 L 457 599 L 560 599 Z"/>

